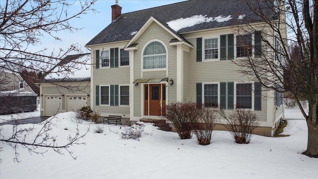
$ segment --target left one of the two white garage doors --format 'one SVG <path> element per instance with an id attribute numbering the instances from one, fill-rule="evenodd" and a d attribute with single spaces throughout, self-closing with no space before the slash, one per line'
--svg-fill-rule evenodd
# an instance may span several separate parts
<path id="1" fill-rule="evenodd" d="M 53 116 L 62 111 L 62 96 L 45 97 L 45 116 Z"/>

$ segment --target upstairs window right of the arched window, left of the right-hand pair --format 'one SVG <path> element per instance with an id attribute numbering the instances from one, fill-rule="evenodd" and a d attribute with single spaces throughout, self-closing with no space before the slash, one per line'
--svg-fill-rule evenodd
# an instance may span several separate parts
<path id="1" fill-rule="evenodd" d="M 218 38 L 204 40 L 204 60 L 218 59 Z"/>

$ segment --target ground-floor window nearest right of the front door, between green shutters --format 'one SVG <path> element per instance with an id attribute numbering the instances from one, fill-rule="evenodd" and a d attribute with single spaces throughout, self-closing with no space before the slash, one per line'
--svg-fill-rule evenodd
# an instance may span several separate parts
<path id="1" fill-rule="evenodd" d="M 204 85 L 204 106 L 218 107 L 218 84 Z"/>

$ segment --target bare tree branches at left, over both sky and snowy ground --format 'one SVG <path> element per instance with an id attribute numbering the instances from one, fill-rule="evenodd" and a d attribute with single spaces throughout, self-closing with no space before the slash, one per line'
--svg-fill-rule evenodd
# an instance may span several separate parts
<path id="1" fill-rule="evenodd" d="M 59 49 L 54 52 L 47 52 L 47 48 L 31 51 L 32 46 L 39 46 L 42 37 L 52 37 L 62 40 L 55 35 L 59 31 L 73 32 L 82 27 L 74 27 L 70 20 L 79 18 L 80 15 L 88 12 L 95 12 L 92 8 L 96 0 L 3 0 L 0 3 L 0 69 L 13 73 L 21 73 L 23 70 L 32 70 L 41 73 L 43 76 L 56 73 L 67 77 L 79 70 L 78 64 L 86 65 L 87 59 L 74 59 L 63 63 L 68 53 L 80 54 L 76 44 L 70 44 L 68 49 Z M 75 4 L 76 3 L 76 4 Z M 77 12 L 70 14 L 66 9 L 71 5 L 79 6 Z M 87 64 L 88 65 L 88 64 Z M 6 83 L 0 81 L 0 87 Z M 14 120 L 14 119 L 12 119 Z M 74 136 L 68 137 L 65 144 L 57 144 L 57 136 L 51 136 L 51 122 L 46 122 L 38 131 L 34 139 L 26 139 L 26 134 L 34 131 L 35 128 L 20 129 L 18 124 L 12 126 L 10 136 L 2 135 L 0 141 L 11 146 L 14 150 L 17 146 L 27 148 L 31 153 L 43 153 L 39 148 L 51 148 L 59 154 L 67 150 L 71 155 L 69 147 L 79 143 L 84 133 L 79 135 L 77 130 Z M 2 130 L 2 128 L 1 128 Z M 28 142 L 31 141 L 31 142 Z M 18 160 L 17 152 L 16 161 Z M 72 155 L 73 156 L 73 155 Z M 75 158 L 75 157 L 74 157 Z"/>

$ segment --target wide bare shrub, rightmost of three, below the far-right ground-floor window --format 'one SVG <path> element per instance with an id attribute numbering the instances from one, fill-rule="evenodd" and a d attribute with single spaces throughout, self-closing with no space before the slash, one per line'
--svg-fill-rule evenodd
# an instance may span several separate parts
<path id="1" fill-rule="evenodd" d="M 229 116 L 224 110 L 219 110 L 220 115 L 226 119 L 226 127 L 231 133 L 234 141 L 238 144 L 248 144 L 254 129 L 259 125 L 257 116 L 250 110 L 236 108 Z"/>

